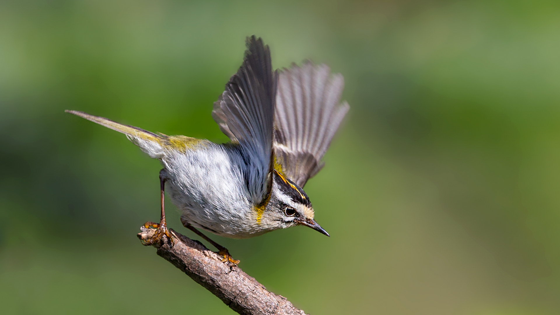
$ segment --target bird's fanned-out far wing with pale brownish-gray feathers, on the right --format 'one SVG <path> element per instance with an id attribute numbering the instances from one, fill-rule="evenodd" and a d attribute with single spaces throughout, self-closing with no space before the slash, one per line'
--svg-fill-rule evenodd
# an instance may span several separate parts
<path id="1" fill-rule="evenodd" d="M 277 85 L 274 167 L 304 187 L 323 168 L 321 159 L 348 112 L 348 103 L 339 103 L 344 78 L 306 61 L 280 71 Z"/>

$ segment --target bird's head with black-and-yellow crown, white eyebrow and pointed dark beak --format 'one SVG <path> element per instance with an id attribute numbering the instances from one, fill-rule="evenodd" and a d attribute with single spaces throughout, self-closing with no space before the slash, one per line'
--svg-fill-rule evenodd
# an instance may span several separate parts
<path id="1" fill-rule="evenodd" d="M 313 206 L 304 189 L 276 170 L 273 170 L 272 176 L 270 199 L 264 205 L 262 213 L 258 213 L 258 224 L 267 230 L 305 225 L 330 236 L 313 219 Z"/>

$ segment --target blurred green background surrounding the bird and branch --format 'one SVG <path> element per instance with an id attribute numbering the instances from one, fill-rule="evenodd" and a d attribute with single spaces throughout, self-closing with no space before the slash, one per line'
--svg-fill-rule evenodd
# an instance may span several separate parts
<path id="1" fill-rule="evenodd" d="M 63 110 L 226 141 L 251 34 L 351 112 L 305 187 L 332 237 L 214 237 L 244 271 L 312 314 L 560 313 L 557 1 L 3 0 L 3 314 L 234 313 L 136 238 L 158 161 Z"/>

